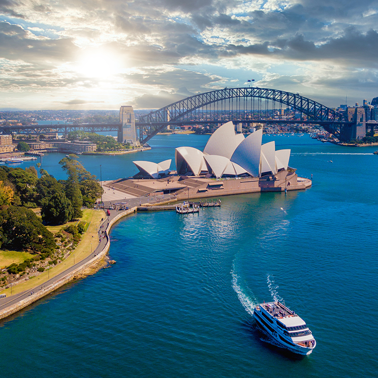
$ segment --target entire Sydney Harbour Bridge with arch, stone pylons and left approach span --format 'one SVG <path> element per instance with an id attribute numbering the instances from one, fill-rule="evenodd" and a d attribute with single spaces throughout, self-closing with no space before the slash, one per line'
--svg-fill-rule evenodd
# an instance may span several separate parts
<path id="1" fill-rule="evenodd" d="M 126 109 L 125 109 L 126 108 Z M 125 114 L 123 114 L 125 113 Z M 118 141 L 148 142 L 167 126 L 222 124 L 313 124 L 322 126 L 342 141 L 366 135 L 363 108 L 340 113 L 310 98 L 275 89 L 224 88 L 190 96 L 134 119 L 131 107 L 121 107 L 120 123 L 4 126 L 3 134 L 67 135 L 69 131 L 117 131 Z M 134 133 L 135 137 L 130 137 Z"/>

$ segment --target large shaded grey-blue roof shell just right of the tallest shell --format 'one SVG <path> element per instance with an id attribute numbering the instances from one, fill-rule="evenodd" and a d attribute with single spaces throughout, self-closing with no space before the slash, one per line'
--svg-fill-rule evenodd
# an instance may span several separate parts
<path id="1" fill-rule="evenodd" d="M 244 168 L 251 176 L 259 176 L 262 129 L 248 135 L 232 154 L 231 161 Z"/>

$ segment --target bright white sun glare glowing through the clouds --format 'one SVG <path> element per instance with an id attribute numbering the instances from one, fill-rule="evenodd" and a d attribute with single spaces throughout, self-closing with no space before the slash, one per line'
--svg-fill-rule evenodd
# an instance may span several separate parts
<path id="1" fill-rule="evenodd" d="M 120 72 L 120 59 L 103 49 L 85 49 L 76 61 L 75 70 L 85 77 L 109 78 Z"/>

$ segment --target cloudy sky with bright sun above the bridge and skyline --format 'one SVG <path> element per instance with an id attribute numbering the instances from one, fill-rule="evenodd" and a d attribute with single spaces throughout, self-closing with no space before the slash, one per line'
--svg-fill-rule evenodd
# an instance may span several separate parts
<path id="1" fill-rule="evenodd" d="M 253 86 L 378 96 L 378 0 L 0 0 L 0 109 L 157 109 Z"/>

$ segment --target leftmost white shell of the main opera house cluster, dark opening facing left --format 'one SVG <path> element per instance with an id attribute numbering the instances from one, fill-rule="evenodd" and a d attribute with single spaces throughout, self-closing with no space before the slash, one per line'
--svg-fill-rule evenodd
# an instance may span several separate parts
<path id="1" fill-rule="evenodd" d="M 178 147 L 175 150 L 175 160 L 177 173 L 185 174 L 188 169 L 194 176 L 198 176 L 201 171 L 207 171 L 206 163 L 202 151 L 193 147 Z M 184 172 L 185 171 L 185 172 Z"/>

